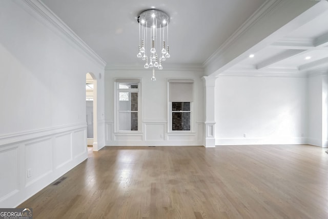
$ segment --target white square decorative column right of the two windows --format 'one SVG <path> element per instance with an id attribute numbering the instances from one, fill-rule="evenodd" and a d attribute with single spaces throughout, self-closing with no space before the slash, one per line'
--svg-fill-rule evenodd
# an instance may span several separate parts
<path id="1" fill-rule="evenodd" d="M 203 76 L 205 81 L 205 147 L 215 147 L 215 81 L 217 77 Z"/>

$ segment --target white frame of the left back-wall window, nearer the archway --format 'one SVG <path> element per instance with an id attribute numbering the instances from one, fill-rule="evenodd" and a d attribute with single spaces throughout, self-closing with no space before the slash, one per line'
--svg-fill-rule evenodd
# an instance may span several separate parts
<path id="1" fill-rule="evenodd" d="M 119 88 L 120 83 L 136 83 L 138 88 Z M 128 92 L 129 96 L 131 93 L 138 93 L 138 111 L 134 110 L 119 110 L 119 93 Z M 119 130 L 119 112 L 137 112 L 138 115 L 138 130 Z M 115 133 L 141 133 L 141 80 L 139 78 L 116 78 L 114 82 L 114 131 Z"/>

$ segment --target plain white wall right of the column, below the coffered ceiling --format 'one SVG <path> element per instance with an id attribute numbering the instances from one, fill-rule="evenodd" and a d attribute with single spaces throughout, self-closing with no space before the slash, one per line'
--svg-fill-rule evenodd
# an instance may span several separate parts
<path id="1" fill-rule="evenodd" d="M 216 145 L 305 143 L 306 82 L 302 77 L 220 76 Z"/>

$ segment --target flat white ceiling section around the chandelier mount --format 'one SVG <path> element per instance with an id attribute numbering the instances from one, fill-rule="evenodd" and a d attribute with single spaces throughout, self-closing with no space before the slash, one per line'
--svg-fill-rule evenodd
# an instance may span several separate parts
<path id="1" fill-rule="evenodd" d="M 265 0 L 42 0 L 108 66 L 141 66 L 139 12 L 155 7 L 170 15 L 166 64 L 202 65 Z"/>

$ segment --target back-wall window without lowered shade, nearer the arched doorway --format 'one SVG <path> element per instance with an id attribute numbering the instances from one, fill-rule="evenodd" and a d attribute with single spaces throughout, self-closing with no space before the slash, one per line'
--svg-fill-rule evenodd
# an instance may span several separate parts
<path id="1" fill-rule="evenodd" d="M 138 131 L 139 80 L 117 79 L 116 83 L 118 131 Z"/>

